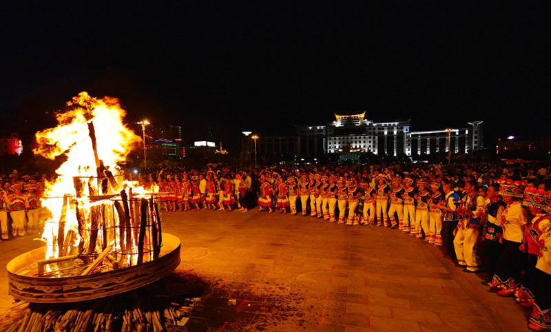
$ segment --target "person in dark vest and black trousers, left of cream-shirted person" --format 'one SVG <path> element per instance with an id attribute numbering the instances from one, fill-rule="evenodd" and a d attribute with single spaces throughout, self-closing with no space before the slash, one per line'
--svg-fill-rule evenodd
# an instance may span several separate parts
<path id="1" fill-rule="evenodd" d="M 484 226 L 483 240 L 477 247 L 480 264 L 488 274 L 483 284 L 488 285 L 494 276 L 497 258 L 503 251 L 503 228 L 501 228 L 501 215 L 505 211 L 506 204 L 499 198 L 499 185 L 489 185 L 486 191 L 486 225 Z M 489 202 L 488 202 L 489 201 Z"/>

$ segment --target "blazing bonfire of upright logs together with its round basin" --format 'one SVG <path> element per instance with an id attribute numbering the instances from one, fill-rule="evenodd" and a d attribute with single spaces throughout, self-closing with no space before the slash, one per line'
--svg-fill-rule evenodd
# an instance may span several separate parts
<path id="1" fill-rule="evenodd" d="M 35 154 L 67 160 L 46 184 L 45 247 L 8 263 L 9 292 L 18 300 L 102 298 L 163 278 L 180 263 L 180 240 L 163 234 L 156 195 L 110 171 L 140 141 L 123 125 L 118 101 L 82 92 L 67 107 L 56 128 L 37 133 Z"/>

